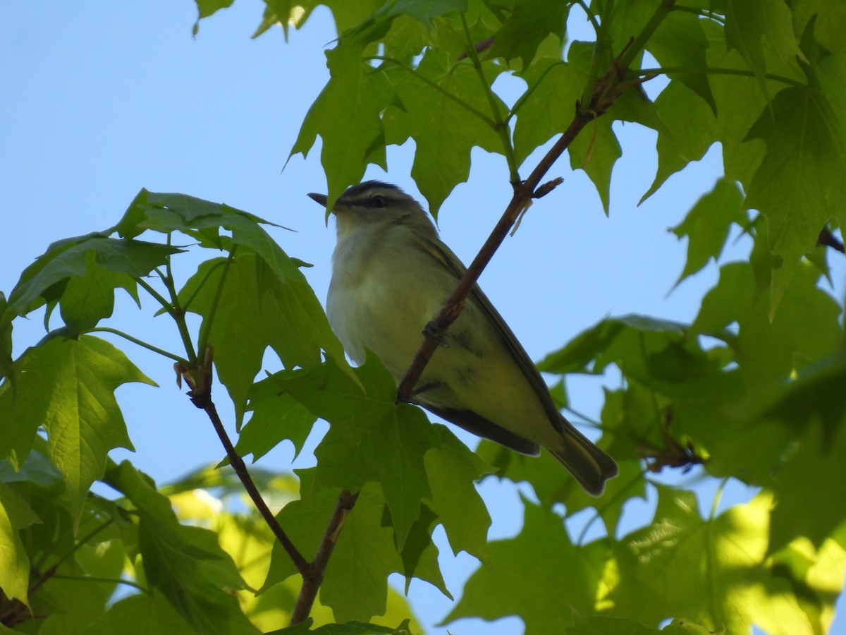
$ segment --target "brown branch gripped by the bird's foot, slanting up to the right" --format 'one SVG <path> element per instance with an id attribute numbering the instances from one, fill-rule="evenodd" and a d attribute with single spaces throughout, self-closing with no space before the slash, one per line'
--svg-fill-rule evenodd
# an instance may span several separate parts
<path id="1" fill-rule="evenodd" d="M 624 49 L 625 52 L 625 49 Z M 589 124 L 593 119 L 604 114 L 608 108 L 611 108 L 613 103 L 620 97 L 624 91 L 631 86 L 639 86 L 644 79 L 635 79 L 624 81 L 624 72 L 620 67 L 620 59 L 624 52 L 616 58 L 611 64 L 611 69 L 600 80 L 596 82 L 594 92 L 591 97 L 591 102 L 586 107 L 581 103 L 576 104 L 576 113 L 573 121 L 569 124 L 567 130 L 564 130 L 563 135 L 555 142 L 546 155 L 541 158 L 540 163 L 522 183 L 512 183 L 514 186 L 514 196 L 511 197 L 511 202 L 505 208 L 503 216 L 499 219 L 496 226 L 493 228 L 491 235 L 488 236 L 485 244 L 473 262 L 470 262 L 470 267 L 464 273 L 464 277 L 459 282 L 458 287 L 453 291 L 448 300 L 441 307 L 441 311 L 437 314 L 434 320 L 426 325 L 424 331 L 424 340 L 417 350 L 414 359 L 409 365 L 409 369 L 405 372 L 403 380 L 399 383 L 397 388 L 397 400 L 409 401 L 415 389 L 415 385 L 420 380 L 420 375 L 426 364 L 431 360 L 431 356 L 437 349 L 438 342 L 443 341 L 443 336 L 447 333 L 447 329 L 458 319 L 462 310 L 464 309 L 464 301 L 470 295 L 470 291 L 476 284 L 481 273 L 485 270 L 487 263 L 491 262 L 493 254 L 497 251 L 500 245 L 503 244 L 505 236 L 508 235 L 508 230 L 511 229 L 514 222 L 519 218 L 521 212 L 525 210 L 533 198 L 540 198 L 544 196 L 557 183 L 545 184 L 538 187 L 541 179 L 547 174 L 549 168 L 552 168 L 552 163 L 558 160 L 564 150 L 568 148 L 573 142 L 576 135 Z"/>

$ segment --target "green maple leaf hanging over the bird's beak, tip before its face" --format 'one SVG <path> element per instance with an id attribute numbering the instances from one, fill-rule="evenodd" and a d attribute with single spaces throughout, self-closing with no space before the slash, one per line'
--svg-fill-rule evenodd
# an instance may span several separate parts
<path id="1" fill-rule="evenodd" d="M 362 49 L 342 39 L 327 51 L 332 79 L 311 105 L 288 158 L 308 155 L 317 135 L 328 184 L 327 210 L 348 185 L 361 180 L 369 163 L 387 170 L 380 113 L 391 102 L 385 75 L 361 60 Z M 327 211 L 328 213 L 328 211 Z"/>

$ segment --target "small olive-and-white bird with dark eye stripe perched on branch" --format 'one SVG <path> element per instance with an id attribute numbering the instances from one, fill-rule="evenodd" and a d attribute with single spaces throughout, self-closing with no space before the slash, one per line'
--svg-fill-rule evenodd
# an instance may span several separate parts
<path id="1" fill-rule="evenodd" d="M 324 207 L 327 196 L 309 194 Z M 327 314 L 349 356 L 365 349 L 399 382 L 422 332 L 464 275 L 420 204 L 396 185 L 365 181 L 332 208 Z M 617 464 L 558 411 L 528 354 L 478 286 L 423 371 L 413 399 L 448 422 L 522 454 L 541 447 L 588 494 L 602 494 Z"/>

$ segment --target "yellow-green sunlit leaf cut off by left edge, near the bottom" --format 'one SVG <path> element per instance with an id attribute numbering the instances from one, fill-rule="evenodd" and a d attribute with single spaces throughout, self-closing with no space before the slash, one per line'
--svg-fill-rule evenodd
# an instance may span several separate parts
<path id="1" fill-rule="evenodd" d="M 29 604 L 30 558 L 20 538 L 20 530 L 41 522 L 14 489 L 0 483 L 0 588 L 8 599 Z"/>

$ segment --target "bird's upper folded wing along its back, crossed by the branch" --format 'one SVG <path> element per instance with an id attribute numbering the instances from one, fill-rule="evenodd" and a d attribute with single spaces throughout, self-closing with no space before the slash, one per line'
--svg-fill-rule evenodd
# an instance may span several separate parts
<path id="1" fill-rule="evenodd" d="M 428 240 L 427 246 L 430 248 L 430 252 L 433 257 L 437 257 L 438 260 L 443 262 L 448 268 L 452 269 L 453 273 L 455 273 L 456 280 L 464 277 L 464 273 L 466 273 L 467 268 L 464 267 L 464 264 L 459 260 L 459 257 L 456 256 L 448 246 L 434 240 Z M 508 328 L 508 324 L 506 324 L 505 320 L 503 320 L 503 316 L 499 314 L 497 309 L 492 305 L 491 301 L 487 299 L 487 296 L 482 293 L 478 284 L 473 286 L 473 290 L 470 291 L 470 297 L 496 327 L 497 333 L 499 333 L 502 338 L 503 344 L 508 348 L 508 352 L 511 353 L 514 362 L 516 362 L 520 371 L 522 371 L 523 376 L 526 378 L 526 381 L 529 382 L 530 386 L 535 391 L 538 399 L 541 400 L 543 409 L 546 411 L 547 417 L 549 417 L 549 421 L 552 423 L 552 426 L 558 430 L 558 432 L 563 433 L 563 421 L 566 421 L 566 419 L 562 417 L 558 408 L 555 406 L 555 403 L 552 401 L 552 396 L 549 394 L 547 384 L 543 381 L 543 378 L 541 378 L 541 373 L 538 373 L 535 363 L 531 361 L 529 354 L 525 351 L 523 346 L 520 345 L 519 340 L 517 340 L 517 337 L 514 335 L 514 332 Z M 448 417 L 444 418 L 448 419 Z M 526 452 L 526 454 L 532 453 Z"/>

